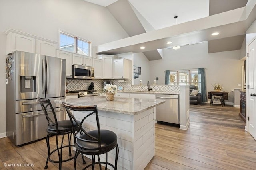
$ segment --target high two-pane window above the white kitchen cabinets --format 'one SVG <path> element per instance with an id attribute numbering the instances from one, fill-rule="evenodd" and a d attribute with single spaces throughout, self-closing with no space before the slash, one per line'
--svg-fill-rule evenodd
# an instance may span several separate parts
<path id="1" fill-rule="evenodd" d="M 60 33 L 60 49 L 90 56 L 91 42 L 67 33 Z"/>

